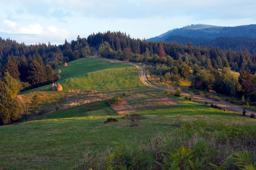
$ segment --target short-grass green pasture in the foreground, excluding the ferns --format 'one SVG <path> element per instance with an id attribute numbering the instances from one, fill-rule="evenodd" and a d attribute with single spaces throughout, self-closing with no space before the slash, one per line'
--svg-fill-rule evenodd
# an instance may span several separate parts
<path id="1" fill-rule="evenodd" d="M 151 94 L 156 95 L 156 92 Z M 160 95 L 164 94 L 159 92 Z M 124 115 L 115 114 L 105 101 L 63 110 L 46 116 L 46 119 L 2 126 L 0 167 L 74 169 L 86 161 L 85 155 L 88 153 L 106 150 L 105 154 L 108 155 L 115 143 L 125 141 L 146 146 L 156 136 L 179 133 L 182 121 L 203 120 L 206 124 L 222 122 L 225 125 L 256 125 L 253 119 L 193 103 L 184 98 L 173 98 L 180 104 L 134 112 L 133 114 L 145 116 L 145 119 L 139 120 L 138 127 L 130 127 L 132 121 L 122 119 Z M 118 122 L 104 124 L 109 117 L 116 118 Z"/>

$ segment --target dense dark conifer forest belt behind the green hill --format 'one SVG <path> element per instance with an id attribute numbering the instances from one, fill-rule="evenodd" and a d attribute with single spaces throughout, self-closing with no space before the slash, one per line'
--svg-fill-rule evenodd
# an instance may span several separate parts
<path id="1" fill-rule="evenodd" d="M 235 52 L 193 46 L 190 42 L 153 42 L 130 38 L 120 31 L 91 34 L 88 38 L 78 36 L 58 46 L 50 42 L 25 45 L 0 38 L 0 78 L 9 72 L 19 90 L 38 87 L 57 81 L 53 69 L 65 61 L 90 55 L 151 65 L 151 74 L 173 85 L 189 80 L 196 89 L 243 97 L 249 103 L 256 100 L 256 54 L 246 48 Z M 239 77 L 231 70 L 239 72 Z"/>

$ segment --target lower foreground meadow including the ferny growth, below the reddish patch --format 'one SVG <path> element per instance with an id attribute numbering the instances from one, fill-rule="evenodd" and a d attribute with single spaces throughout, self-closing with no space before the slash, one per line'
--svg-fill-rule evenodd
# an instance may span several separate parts
<path id="1" fill-rule="evenodd" d="M 152 162 L 152 169 L 164 169 L 171 164 L 181 167 L 171 155 L 182 150 L 198 154 L 198 145 L 203 150 L 200 153 L 204 153 L 197 164 L 201 169 L 222 167 L 226 160 L 233 160 L 231 156 L 227 159 L 233 153 L 248 152 L 249 163 L 255 162 L 255 119 L 175 99 L 181 103 L 136 112 L 139 122 L 132 122 L 131 116 L 115 114 L 102 101 L 64 110 L 43 120 L 2 126 L 0 167 L 143 169 L 135 161 L 141 160 Z M 110 117 L 118 121 L 104 124 Z M 197 159 L 186 159 L 182 167 L 189 167 L 189 160 L 196 166 Z M 229 166 L 237 168 L 232 162 Z"/>

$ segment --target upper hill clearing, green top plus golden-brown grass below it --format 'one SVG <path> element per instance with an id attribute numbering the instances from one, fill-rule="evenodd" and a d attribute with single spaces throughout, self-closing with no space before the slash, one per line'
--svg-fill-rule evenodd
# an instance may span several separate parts
<path id="1" fill-rule="evenodd" d="M 40 98 L 39 116 L 56 112 L 58 103 L 61 110 L 70 107 L 102 101 L 112 98 L 131 89 L 140 92 L 147 88 L 139 81 L 138 69 L 135 66 L 123 63 L 111 63 L 95 58 L 81 58 L 55 69 L 61 69 L 61 83 L 63 91 L 56 92 L 50 89 L 51 84 L 18 95 L 24 109 L 32 114 L 27 115 L 29 120 L 35 119 L 34 110 L 31 108 L 31 99 L 35 94 Z"/>

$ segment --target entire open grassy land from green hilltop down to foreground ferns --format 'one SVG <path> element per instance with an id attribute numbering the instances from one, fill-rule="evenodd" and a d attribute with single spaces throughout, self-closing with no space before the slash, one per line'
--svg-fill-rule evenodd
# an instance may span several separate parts
<path id="1" fill-rule="evenodd" d="M 63 91 L 19 95 L 27 107 L 40 96 L 39 118 L 0 127 L 0 170 L 254 166 L 255 119 L 146 87 L 132 65 L 81 58 L 58 69 Z"/>

